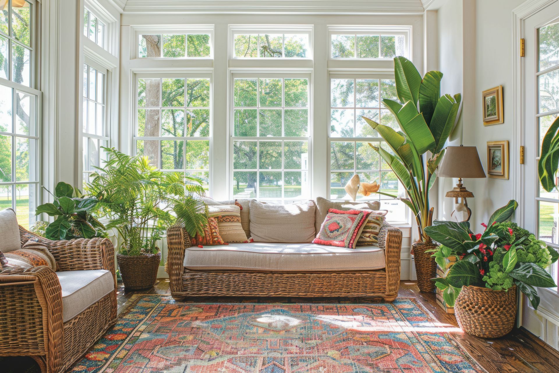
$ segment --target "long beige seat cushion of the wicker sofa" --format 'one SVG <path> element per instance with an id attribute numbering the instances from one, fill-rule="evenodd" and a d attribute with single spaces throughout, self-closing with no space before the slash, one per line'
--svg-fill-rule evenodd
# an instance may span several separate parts
<path id="1" fill-rule="evenodd" d="M 347 249 L 312 243 L 240 243 L 189 247 L 184 267 L 190 270 L 365 271 L 386 266 L 376 246 Z"/>

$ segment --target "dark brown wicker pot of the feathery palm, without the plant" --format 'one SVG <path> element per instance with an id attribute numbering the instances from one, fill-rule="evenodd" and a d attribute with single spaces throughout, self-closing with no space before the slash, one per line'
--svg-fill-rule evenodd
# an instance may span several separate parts
<path id="1" fill-rule="evenodd" d="M 148 289 L 157 280 L 161 253 L 132 257 L 116 254 L 116 262 L 126 290 Z"/>

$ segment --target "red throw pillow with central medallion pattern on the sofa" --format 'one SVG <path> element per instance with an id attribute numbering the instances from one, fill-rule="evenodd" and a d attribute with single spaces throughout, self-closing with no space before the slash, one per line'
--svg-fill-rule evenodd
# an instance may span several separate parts
<path id="1" fill-rule="evenodd" d="M 359 229 L 371 214 L 367 210 L 342 211 L 329 209 L 320 231 L 312 243 L 355 248 Z"/>

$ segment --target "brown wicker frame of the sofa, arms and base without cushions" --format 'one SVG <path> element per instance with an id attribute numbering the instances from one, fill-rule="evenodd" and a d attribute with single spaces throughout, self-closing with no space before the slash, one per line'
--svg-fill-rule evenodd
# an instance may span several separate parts
<path id="1" fill-rule="evenodd" d="M 188 270 L 183 262 L 190 238 L 182 226 L 173 225 L 167 230 L 171 294 L 176 299 L 186 296 L 331 296 L 393 301 L 400 287 L 401 230 L 385 224 L 378 244 L 385 249 L 386 267 L 374 271 Z"/>

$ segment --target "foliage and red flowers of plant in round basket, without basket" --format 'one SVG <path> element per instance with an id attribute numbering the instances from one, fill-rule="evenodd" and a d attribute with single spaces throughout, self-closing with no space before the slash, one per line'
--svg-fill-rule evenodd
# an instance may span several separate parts
<path id="1" fill-rule="evenodd" d="M 537 309 L 536 287 L 557 286 L 546 268 L 557 261 L 559 253 L 509 220 L 517 207 L 518 202 L 510 200 L 497 209 L 487 224 L 481 224 L 483 233 L 473 233 L 468 221 L 435 220 L 425 228 L 429 237 L 439 243 L 433 251 L 439 266 L 444 267 L 447 259 L 456 257 L 446 276 L 433 278 L 449 306 L 454 306 L 462 286 L 508 291 L 516 285 Z"/>

